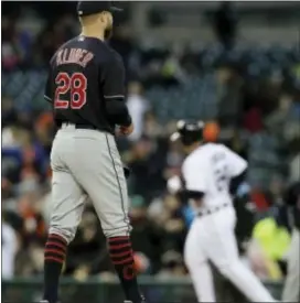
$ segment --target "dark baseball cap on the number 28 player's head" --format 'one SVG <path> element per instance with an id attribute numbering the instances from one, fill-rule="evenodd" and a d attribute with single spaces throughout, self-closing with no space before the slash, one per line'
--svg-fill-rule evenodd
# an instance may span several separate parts
<path id="1" fill-rule="evenodd" d="M 77 13 L 79 17 L 99 13 L 103 11 L 118 12 L 122 9 L 111 6 L 110 1 L 78 1 Z"/>

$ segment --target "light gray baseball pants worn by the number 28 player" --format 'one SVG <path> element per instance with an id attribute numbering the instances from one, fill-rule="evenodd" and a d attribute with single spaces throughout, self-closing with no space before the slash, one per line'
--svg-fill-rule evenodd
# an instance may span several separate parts
<path id="1" fill-rule="evenodd" d="M 53 141 L 51 166 L 50 234 L 71 242 L 90 198 L 106 237 L 129 235 L 127 184 L 111 134 L 63 125 Z"/>

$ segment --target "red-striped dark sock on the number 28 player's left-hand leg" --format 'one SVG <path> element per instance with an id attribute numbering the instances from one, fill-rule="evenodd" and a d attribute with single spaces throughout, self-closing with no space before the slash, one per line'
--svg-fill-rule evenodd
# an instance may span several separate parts
<path id="1" fill-rule="evenodd" d="M 58 235 L 49 235 L 44 255 L 44 295 L 49 303 L 58 302 L 58 283 L 66 257 L 67 242 Z"/>

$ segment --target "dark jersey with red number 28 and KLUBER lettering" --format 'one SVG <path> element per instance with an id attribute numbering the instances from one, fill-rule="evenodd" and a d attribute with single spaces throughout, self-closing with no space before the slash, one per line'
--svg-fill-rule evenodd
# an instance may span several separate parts
<path id="1" fill-rule="evenodd" d="M 115 98 L 125 98 L 125 68 L 118 53 L 87 36 L 72 39 L 57 50 L 50 63 L 45 99 L 58 126 L 90 125 L 114 133 L 106 104 Z"/>

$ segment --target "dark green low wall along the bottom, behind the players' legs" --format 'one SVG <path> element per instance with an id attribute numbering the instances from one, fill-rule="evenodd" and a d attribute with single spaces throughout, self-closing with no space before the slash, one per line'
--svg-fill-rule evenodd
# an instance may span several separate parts
<path id="1" fill-rule="evenodd" d="M 152 277 L 142 277 L 140 278 L 140 284 L 149 303 L 196 303 L 191 280 L 188 278 L 161 280 Z M 266 282 L 265 284 L 276 299 L 280 299 L 282 283 Z M 42 295 L 42 286 L 41 278 L 2 281 L 2 302 L 39 302 Z M 247 302 L 243 296 L 235 293 L 224 280 L 218 281 L 216 291 L 219 300 L 223 302 Z M 73 279 L 62 279 L 61 299 L 62 303 L 124 302 L 118 281 L 105 282 L 97 278 L 90 278 L 84 282 Z"/>

